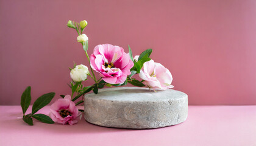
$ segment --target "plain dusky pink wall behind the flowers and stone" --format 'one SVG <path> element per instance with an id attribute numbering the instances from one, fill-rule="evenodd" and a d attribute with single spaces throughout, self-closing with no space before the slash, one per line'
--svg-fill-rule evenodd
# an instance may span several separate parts
<path id="1" fill-rule="evenodd" d="M 89 54 L 110 43 L 152 48 L 190 105 L 256 105 L 256 1 L 0 1 L 0 105 L 26 86 L 69 94 L 68 67 L 88 66 L 69 19 L 86 19 Z M 85 85 L 90 85 L 88 80 Z M 59 98 L 58 96 L 55 99 Z"/>

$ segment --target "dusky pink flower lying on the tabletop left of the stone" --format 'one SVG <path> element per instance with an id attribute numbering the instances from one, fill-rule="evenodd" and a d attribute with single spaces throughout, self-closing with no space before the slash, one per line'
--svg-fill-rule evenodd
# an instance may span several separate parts
<path id="1" fill-rule="evenodd" d="M 50 111 L 49 116 L 54 122 L 62 123 L 63 125 L 77 123 L 76 118 L 79 116 L 79 111 L 69 95 L 54 102 L 50 107 Z"/>

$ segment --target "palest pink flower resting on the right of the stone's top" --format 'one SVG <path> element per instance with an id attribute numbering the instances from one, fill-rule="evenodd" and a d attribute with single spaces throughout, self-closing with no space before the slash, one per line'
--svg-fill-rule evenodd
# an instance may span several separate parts
<path id="1" fill-rule="evenodd" d="M 144 85 L 152 89 L 166 90 L 174 87 L 171 85 L 171 72 L 162 64 L 155 63 L 154 60 L 147 61 L 143 64 L 139 76 L 145 80 L 143 82 Z"/>

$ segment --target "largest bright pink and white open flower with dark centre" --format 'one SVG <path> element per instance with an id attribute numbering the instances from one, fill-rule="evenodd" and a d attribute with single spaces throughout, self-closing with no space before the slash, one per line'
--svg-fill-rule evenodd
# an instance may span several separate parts
<path id="1" fill-rule="evenodd" d="M 133 61 L 124 49 L 112 44 L 99 44 L 91 54 L 91 68 L 99 72 L 102 79 L 111 84 L 124 83 Z"/>

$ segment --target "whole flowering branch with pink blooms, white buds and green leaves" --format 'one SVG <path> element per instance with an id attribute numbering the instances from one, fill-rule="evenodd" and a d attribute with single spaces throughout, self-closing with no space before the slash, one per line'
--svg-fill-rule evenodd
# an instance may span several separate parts
<path id="1" fill-rule="evenodd" d="M 29 125 L 33 125 L 33 120 L 37 119 L 45 123 L 62 123 L 73 125 L 77 123 L 77 117 L 82 109 L 77 109 L 77 105 L 84 103 L 83 99 L 78 100 L 81 96 L 85 96 L 88 92 L 98 94 L 99 89 L 105 86 L 125 86 L 130 83 L 133 86 L 148 87 L 160 90 L 173 88 L 171 85 L 172 75 L 168 69 L 162 64 L 155 63 L 150 58 L 152 49 L 146 49 L 140 55 L 133 57 L 132 49 L 128 46 L 129 53 L 126 53 L 122 47 L 112 44 L 99 44 L 94 47 L 93 54 L 88 55 L 88 36 L 84 30 L 87 27 L 87 21 L 83 20 L 80 23 L 69 20 L 66 24 L 69 28 L 75 29 L 78 36 L 77 42 L 82 44 L 85 51 L 90 71 L 87 66 L 74 63 L 70 69 L 71 82 L 68 86 L 71 88 L 71 96 L 60 95 L 60 99 L 56 100 L 50 107 L 49 117 L 44 114 L 35 114 L 44 106 L 48 105 L 53 99 L 55 93 L 51 92 L 39 97 L 32 106 L 32 113 L 25 114 L 30 105 L 30 86 L 26 88 L 21 96 L 21 108 L 23 110 L 23 120 Z M 101 76 L 97 80 L 94 71 Z M 138 74 L 142 79 L 137 80 L 133 75 Z M 84 86 L 87 77 L 94 80 L 94 84 Z M 76 102 L 76 103 L 75 103 Z M 51 118 L 50 118 L 51 117 Z"/>

